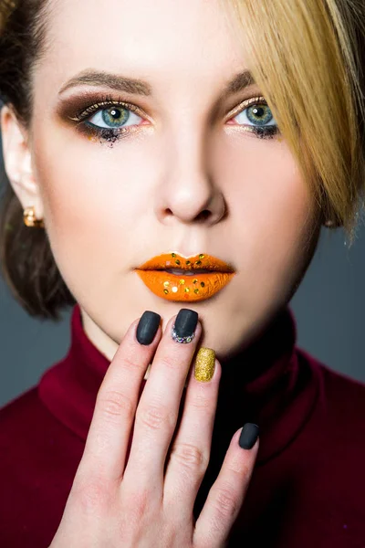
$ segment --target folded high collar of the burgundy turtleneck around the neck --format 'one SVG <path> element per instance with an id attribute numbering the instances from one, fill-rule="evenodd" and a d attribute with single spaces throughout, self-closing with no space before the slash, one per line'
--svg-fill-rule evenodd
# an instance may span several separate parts
<path id="1" fill-rule="evenodd" d="M 86 440 L 110 361 L 89 340 L 78 304 L 70 323 L 68 354 L 43 374 L 38 394 L 61 423 Z M 296 321 L 286 307 L 254 343 L 222 364 L 212 445 L 217 458 L 224 457 L 219 448 L 225 452 L 229 439 L 245 422 L 260 427 L 257 464 L 285 449 L 307 422 L 318 395 L 318 370 L 296 342 Z"/>

